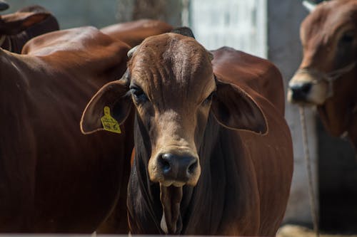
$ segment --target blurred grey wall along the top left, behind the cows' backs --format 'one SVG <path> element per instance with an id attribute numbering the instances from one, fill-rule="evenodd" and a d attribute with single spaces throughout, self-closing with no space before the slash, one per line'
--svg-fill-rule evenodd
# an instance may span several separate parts
<path id="1" fill-rule="evenodd" d="M 21 7 L 38 4 L 52 12 L 61 29 L 79 26 L 101 28 L 123 21 L 161 19 L 181 26 L 181 0 L 8 0 L 9 14 Z"/>

